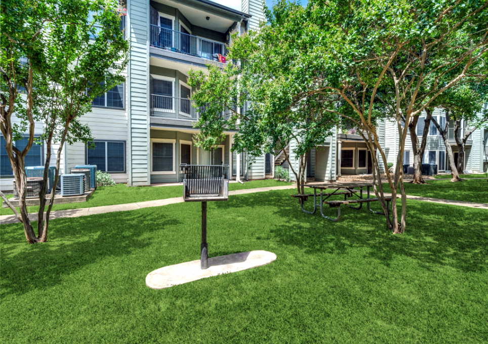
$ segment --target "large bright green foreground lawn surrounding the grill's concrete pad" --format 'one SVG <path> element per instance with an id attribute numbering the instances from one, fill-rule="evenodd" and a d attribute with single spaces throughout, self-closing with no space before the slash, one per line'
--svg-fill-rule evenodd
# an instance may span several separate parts
<path id="1" fill-rule="evenodd" d="M 199 203 L 54 220 L 44 244 L 2 226 L 0 341 L 488 340 L 488 211 L 408 200 L 406 233 L 392 235 L 364 207 L 338 223 L 305 214 L 292 192 L 208 205 L 210 256 L 263 249 L 275 262 L 162 290 L 149 272 L 199 258 Z"/>

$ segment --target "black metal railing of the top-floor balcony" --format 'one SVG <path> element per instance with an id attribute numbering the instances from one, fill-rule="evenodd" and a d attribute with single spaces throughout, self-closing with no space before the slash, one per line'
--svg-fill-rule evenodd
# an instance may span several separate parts
<path id="1" fill-rule="evenodd" d="M 215 61 L 219 61 L 219 54 L 227 55 L 227 48 L 223 43 L 152 24 L 150 25 L 150 45 Z"/>

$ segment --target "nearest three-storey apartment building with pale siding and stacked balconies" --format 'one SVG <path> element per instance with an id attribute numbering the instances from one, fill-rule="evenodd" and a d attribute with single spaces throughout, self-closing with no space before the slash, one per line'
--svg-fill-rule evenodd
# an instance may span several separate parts
<path id="1" fill-rule="evenodd" d="M 180 163 L 228 164 L 232 179 L 272 176 L 270 155 L 231 153 L 232 131 L 211 151 L 193 143 L 197 112 L 189 100 L 188 71 L 229 63 L 231 32 L 256 29 L 264 20 L 260 1 L 242 0 L 241 6 L 237 11 L 208 0 L 128 0 L 121 23 L 132 47 L 126 81 L 93 101 L 92 112 L 82 121 L 91 127 L 95 149 L 66 144 L 60 172 L 96 164 L 117 183 L 134 186 L 179 182 Z M 36 135 L 41 134 L 43 123 L 35 127 Z M 15 144 L 22 148 L 24 141 Z M 45 148 L 34 145 L 26 165 L 43 165 Z M 10 161 L 5 149 L 0 151 L 0 188 L 10 191 Z"/>

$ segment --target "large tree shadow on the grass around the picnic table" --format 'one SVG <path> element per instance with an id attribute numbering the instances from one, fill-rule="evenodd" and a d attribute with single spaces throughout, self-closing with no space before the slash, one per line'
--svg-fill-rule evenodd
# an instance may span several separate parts
<path id="1" fill-rule="evenodd" d="M 368 247 L 369 256 L 387 266 L 399 255 L 416 259 L 429 270 L 441 265 L 464 272 L 483 272 L 488 263 L 485 210 L 409 200 L 405 234 L 393 235 L 386 227 L 385 217 L 368 211 L 365 205 L 360 210 L 341 207 L 341 218 L 333 223 L 320 216 L 318 207 L 313 215 L 302 212 L 298 201 L 286 191 L 242 195 L 219 203 L 216 206 L 221 209 L 272 205 L 272 212 L 282 219 L 271 230 L 275 240 L 309 254 L 347 254 L 351 247 L 364 246 Z M 313 198 L 309 198 L 305 209 L 312 208 Z M 372 209 L 380 210 L 379 204 L 373 203 Z M 324 206 L 323 212 L 329 217 L 337 216 L 337 208 Z"/>

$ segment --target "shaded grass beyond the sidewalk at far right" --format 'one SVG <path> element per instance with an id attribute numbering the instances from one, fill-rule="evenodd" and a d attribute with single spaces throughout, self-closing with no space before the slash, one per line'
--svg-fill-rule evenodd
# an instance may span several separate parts
<path id="1" fill-rule="evenodd" d="M 389 192 L 388 185 L 383 185 L 385 192 Z M 457 183 L 449 180 L 427 181 L 427 184 L 422 185 L 405 183 L 405 191 L 407 195 L 488 203 L 488 183 L 482 179 Z"/>

